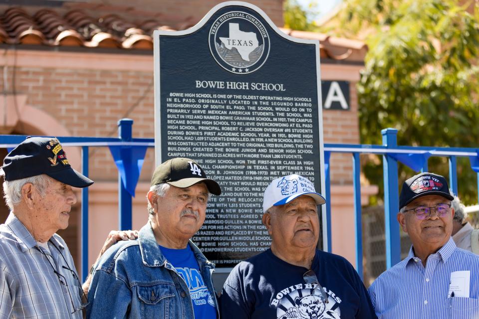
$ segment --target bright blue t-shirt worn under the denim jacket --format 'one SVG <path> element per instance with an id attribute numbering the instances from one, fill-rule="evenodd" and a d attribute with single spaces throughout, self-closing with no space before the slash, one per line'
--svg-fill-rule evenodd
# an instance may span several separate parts
<path id="1" fill-rule="evenodd" d="M 201 275 L 198 261 L 190 245 L 185 249 L 171 249 L 160 246 L 165 258 L 175 267 L 190 290 L 195 319 L 216 319 L 216 308 L 208 287 Z"/>

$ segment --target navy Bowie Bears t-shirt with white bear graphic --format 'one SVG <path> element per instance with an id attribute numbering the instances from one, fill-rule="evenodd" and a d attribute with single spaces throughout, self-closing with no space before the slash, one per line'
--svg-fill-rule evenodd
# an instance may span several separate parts
<path id="1" fill-rule="evenodd" d="M 316 284 L 306 284 L 306 268 L 288 264 L 270 249 L 238 264 L 220 297 L 227 319 L 374 319 L 369 295 L 343 257 L 316 251 L 311 269 L 328 295 L 324 303 Z"/>

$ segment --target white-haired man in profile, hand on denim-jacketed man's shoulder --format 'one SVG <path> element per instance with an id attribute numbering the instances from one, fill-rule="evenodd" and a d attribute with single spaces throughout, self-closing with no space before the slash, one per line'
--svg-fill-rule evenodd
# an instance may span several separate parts
<path id="1" fill-rule="evenodd" d="M 0 317 L 82 318 L 86 297 L 55 232 L 68 226 L 76 203 L 72 187 L 93 181 L 74 170 L 50 138 L 27 138 L 5 157 L 2 170 L 11 212 L 0 225 Z M 111 232 L 102 251 L 125 236 Z"/>

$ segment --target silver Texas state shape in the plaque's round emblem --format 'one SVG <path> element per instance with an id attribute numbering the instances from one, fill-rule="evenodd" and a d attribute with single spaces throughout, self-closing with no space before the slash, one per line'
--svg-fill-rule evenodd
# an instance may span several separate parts
<path id="1" fill-rule="evenodd" d="M 228 50 L 236 48 L 241 59 L 249 62 L 249 53 L 258 47 L 258 38 L 254 32 L 240 30 L 239 23 L 230 23 L 230 37 L 220 37 Z"/>

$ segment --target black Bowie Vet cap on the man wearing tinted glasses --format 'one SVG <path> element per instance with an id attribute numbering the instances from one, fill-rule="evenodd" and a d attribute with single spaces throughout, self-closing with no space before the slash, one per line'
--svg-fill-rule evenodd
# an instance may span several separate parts
<path id="1" fill-rule="evenodd" d="M 449 192 L 448 181 L 444 176 L 424 172 L 414 175 L 403 183 L 401 195 L 399 195 L 399 209 L 416 198 L 426 195 L 439 195 L 449 200 L 454 199 Z"/>

